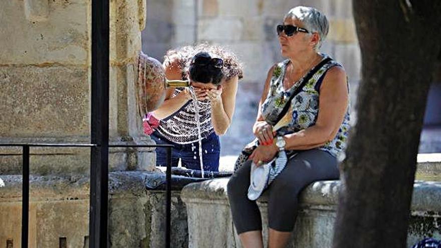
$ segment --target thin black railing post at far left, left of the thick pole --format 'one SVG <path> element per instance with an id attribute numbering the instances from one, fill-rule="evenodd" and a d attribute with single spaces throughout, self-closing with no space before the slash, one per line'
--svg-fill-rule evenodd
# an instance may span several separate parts
<path id="1" fill-rule="evenodd" d="M 22 177 L 22 248 L 28 248 L 29 231 L 29 146 L 23 146 Z"/>

